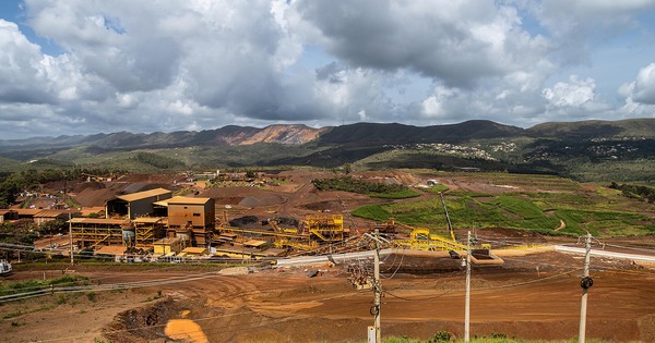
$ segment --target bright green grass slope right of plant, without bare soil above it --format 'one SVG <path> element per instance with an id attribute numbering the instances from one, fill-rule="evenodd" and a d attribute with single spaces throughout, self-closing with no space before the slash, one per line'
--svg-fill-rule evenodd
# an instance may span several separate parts
<path id="1" fill-rule="evenodd" d="M 592 191 L 594 196 L 597 193 Z M 546 235 L 642 236 L 655 233 L 655 221 L 644 215 L 616 210 L 592 210 L 585 194 L 514 193 L 503 194 L 488 203 L 478 201 L 468 193 L 449 192 L 448 211 L 456 229 L 507 228 Z M 604 198 L 599 198 L 603 200 Z M 580 201 L 577 208 L 575 203 Z M 602 207 L 600 207 L 602 208 Z M 623 208 L 621 206 L 620 208 Z M 552 211 L 552 213 L 547 213 Z M 353 215 L 378 222 L 396 221 L 434 232 L 445 232 L 445 216 L 436 198 L 395 204 L 368 205 Z M 560 226 L 560 220 L 565 228 Z"/>

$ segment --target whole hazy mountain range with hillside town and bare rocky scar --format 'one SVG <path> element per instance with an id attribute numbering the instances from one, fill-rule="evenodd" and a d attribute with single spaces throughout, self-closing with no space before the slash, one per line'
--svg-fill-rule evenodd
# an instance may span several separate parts
<path id="1" fill-rule="evenodd" d="M 182 150 L 183 149 L 183 150 Z M 550 173 L 576 180 L 655 182 L 655 119 L 543 123 L 474 120 L 413 126 L 278 124 L 200 132 L 0 139 L 0 172 L 91 168 L 129 171 L 276 166 Z"/>

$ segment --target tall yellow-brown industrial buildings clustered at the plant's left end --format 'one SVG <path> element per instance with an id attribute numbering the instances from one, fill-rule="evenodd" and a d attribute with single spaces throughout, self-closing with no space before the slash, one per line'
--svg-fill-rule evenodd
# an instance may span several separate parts
<path id="1" fill-rule="evenodd" d="M 189 247 L 207 249 L 215 226 L 214 199 L 171 195 L 156 188 L 109 199 L 106 218 L 68 221 L 73 241 L 94 249 L 108 245 L 154 248 L 156 255 L 180 254 Z M 193 254 L 198 253 L 189 255 Z"/>

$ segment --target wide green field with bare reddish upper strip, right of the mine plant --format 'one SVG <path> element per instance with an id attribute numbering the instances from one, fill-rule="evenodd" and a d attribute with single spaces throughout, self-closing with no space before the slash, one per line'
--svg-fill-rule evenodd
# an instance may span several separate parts
<path id="1" fill-rule="evenodd" d="M 498 175 L 466 175 L 498 182 Z M 455 175 L 453 175 L 455 176 Z M 462 179 L 462 175 L 456 175 Z M 480 179 L 481 180 L 481 179 Z M 536 231 L 548 235 L 643 236 L 655 234 L 655 206 L 630 199 L 620 192 L 602 186 L 582 187 L 552 176 L 505 177 L 505 184 L 536 188 L 551 185 L 559 192 L 508 192 L 477 194 L 465 191 L 445 193 L 451 222 L 455 229 L 505 228 Z M 535 186 L 536 185 L 536 186 Z M 575 193 L 571 193 L 571 188 Z M 394 218 L 407 225 L 445 232 L 446 222 L 437 196 L 403 203 L 373 204 L 357 208 L 354 216 L 378 222 Z M 562 222 L 564 225 L 562 225 Z"/>

